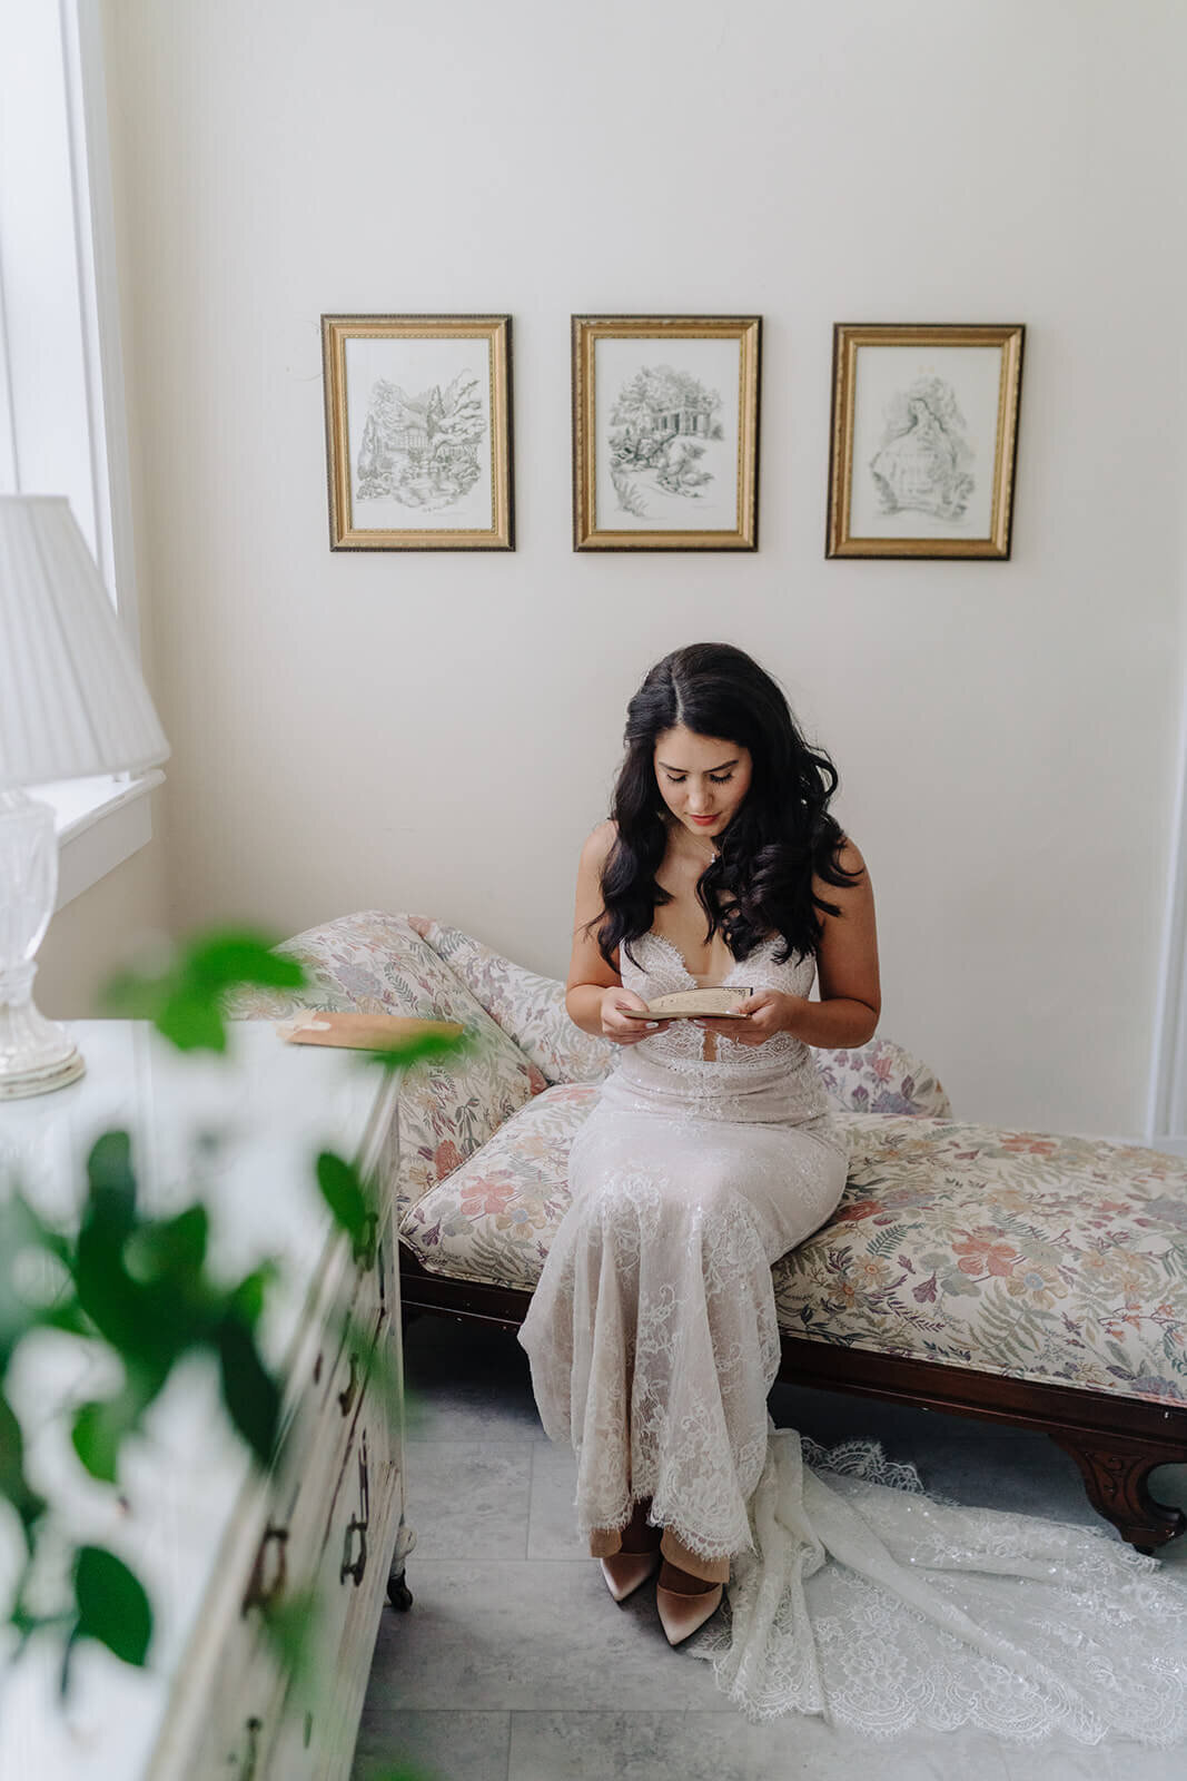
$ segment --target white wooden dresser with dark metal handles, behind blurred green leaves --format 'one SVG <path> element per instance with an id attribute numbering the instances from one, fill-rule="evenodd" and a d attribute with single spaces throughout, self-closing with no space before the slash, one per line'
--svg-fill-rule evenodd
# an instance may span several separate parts
<path id="1" fill-rule="evenodd" d="M 112 1126 L 133 1133 L 141 1206 L 212 1211 L 210 1266 L 238 1279 L 281 1265 L 260 1327 L 283 1375 L 283 1441 L 263 1478 L 231 1434 L 212 1362 L 183 1362 L 132 1443 L 123 1500 L 87 1478 L 64 1403 L 116 1389 L 110 1357 L 53 1332 L 28 1338 L 9 1393 L 32 1430 L 34 1487 L 64 1507 L 73 1541 L 117 1551 L 148 1587 L 148 1669 L 84 1642 L 66 1703 L 61 1642 L 5 1667 L 4 1781 L 329 1781 L 347 1777 L 392 1582 L 406 1606 L 400 1307 L 390 1206 L 352 1254 L 315 1183 L 322 1149 L 390 1179 L 397 1083 L 356 1054 L 285 1045 L 235 1022 L 231 1054 L 180 1056 L 142 1022 L 71 1026 L 87 1074 L 0 1104 L 0 1191 L 20 1179 L 55 1220 L 77 1215 L 85 1156 Z M 381 1202 L 383 1204 L 383 1202 Z M 342 1313 L 349 1311 L 343 1334 Z M 365 1366 L 379 1345 L 388 1386 Z M 367 1377 L 365 1377 L 367 1375 Z M 0 1521 L 0 1596 L 14 1574 Z M 317 1592 L 311 1663 L 294 1678 L 263 1631 L 269 1608 Z M 0 1635 L 2 1646 L 4 1635 Z"/>

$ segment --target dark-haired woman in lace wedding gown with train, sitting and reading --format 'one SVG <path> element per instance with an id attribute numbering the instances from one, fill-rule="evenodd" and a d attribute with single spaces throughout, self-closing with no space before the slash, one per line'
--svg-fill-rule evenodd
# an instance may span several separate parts
<path id="1" fill-rule="evenodd" d="M 676 650 L 630 702 L 568 980 L 571 1019 L 619 1060 L 520 1330 L 545 1430 L 578 1459 L 580 1528 L 616 1601 L 658 1569 L 667 1639 L 699 1631 L 751 1717 L 1187 1738 L 1187 1587 L 1155 1558 L 961 1509 L 874 1443 L 824 1453 L 767 1414 L 771 1265 L 847 1174 L 812 1049 L 865 1044 L 881 1008 L 836 784 L 742 650 Z M 710 987 L 712 1015 L 648 1017 Z"/>

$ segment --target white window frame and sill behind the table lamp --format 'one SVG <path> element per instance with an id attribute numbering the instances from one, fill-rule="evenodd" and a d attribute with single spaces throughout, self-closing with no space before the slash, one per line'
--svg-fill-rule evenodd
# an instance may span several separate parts
<path id="1" fill-rule="evenodd" d="M 21 41 L 21 27 L 30 18 L 25 7 L 27 0 L 0 0 L 0 39 Z M 46 9 L 37 14 L 36 25 L 27 27 L 30 37 L 25 43 L 34 43 L 39 77 L 36 112 L 28 107 L 28 93 L 4 91 L 2 71 L 0 107 L 12 119 L 4 148 L 18 171 L 25 159 L 23 128 L 41 132 L 39 141 L 28 144 L 30 151 L 50 150 L 50 185 L 37 194 L 39 240 L 32 249 L 39 253 L 44 248 L 46 267 L 34 260 L 34 271 L 41 274 L 43 289 L 46 278 L 53 280 L 57 301 L 50 305 L 52 326 L 62 329 L 62 360 L 68 362 L 66 369 L 61 363 L 55 367 L 62 374 L 55 403 L 68 410 L 57 413 L 55 408 L 55 422 L 75 440 L 80 431 L 85 433 L 85 461 L 78 454 L 71 465 L 59 468 L 53 445 L 46 445 L 44 403 L 36 401 L 28 376 L 37 347 L 44 349 L 39 324 L 43 335 L 46 324 L 37 313 L 39 278 L 21 281 L 12 274 L 18 256 L 27 269 L 32 239 L 21 239 L 28 212 L 11 201 L 7 223 L 0 208 L 0 488 L 69 495 L 139 661 L 101 12 L 98 0 L 59 0 L 53 12 L 57 20 Z M 9 85 L 27 78 L 20 55 L 5 61 Z M 64 289 L 69 281 L 75 287 L 71 292 Z M 162 782 L 164 773 L 153 769 L 135 777 L 119 773 L 30 787 L 57 812 L 59 908 L 151 841 L 148 793 Z"/>

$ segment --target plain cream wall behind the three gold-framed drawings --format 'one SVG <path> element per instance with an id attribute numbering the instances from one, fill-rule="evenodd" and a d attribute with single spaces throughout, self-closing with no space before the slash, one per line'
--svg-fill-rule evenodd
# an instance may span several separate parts
<path id="1" fill-rule="evenodd" d="M 110 0 L 171 912 L 566 964 L 623 705 L 753 650 L 835 755 L 883 1031 L 1141 1129 L 1182 700 L 1176 0 Z M 319 315 L 514 315 L 514 554 L 327 549 Z M 575 556 L 571 312 L 765 319 L 762 549 Z M 835 321 L 1023 321 L 1014 557 L 826 563 Z"/>

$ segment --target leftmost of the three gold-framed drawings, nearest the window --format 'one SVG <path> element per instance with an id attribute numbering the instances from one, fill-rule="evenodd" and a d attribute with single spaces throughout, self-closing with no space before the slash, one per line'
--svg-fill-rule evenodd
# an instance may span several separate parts
<path id="1" fill-rule="evenodd" d="M 509 315 L 322 315 L 331 550 L 514 550 Z"/>

